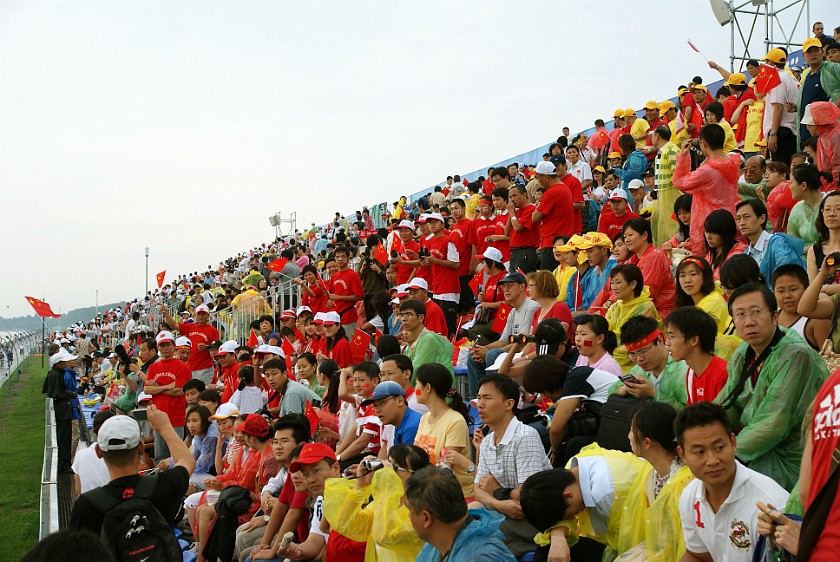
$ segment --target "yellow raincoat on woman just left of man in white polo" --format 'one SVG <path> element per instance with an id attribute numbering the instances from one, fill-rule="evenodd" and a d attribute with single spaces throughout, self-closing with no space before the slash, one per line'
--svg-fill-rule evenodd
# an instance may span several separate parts
<path id="1" fill-rule="evenodd" d="M 648 562 L 674 562 L 685 553 L 685 538 L 680 519 L 680 496 L 694 475 L 683 466 L 662 487 L 656 500 L 648 505 L 645 487 L 653 473 L 648 464 L 636 475 L 627 494 L 621 516 L 618 552 L 625 552 L 642 541 Z"/>

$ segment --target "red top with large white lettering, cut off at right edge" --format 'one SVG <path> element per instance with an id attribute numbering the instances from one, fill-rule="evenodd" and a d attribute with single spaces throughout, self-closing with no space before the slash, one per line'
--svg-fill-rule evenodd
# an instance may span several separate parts
<path id="1" fill-rule="evenodd" d="M 807 510 L 814 498 L 828 481 L 831 457 L 840 440 L 840 424 L 836 422 L 837 412 L 840 411 L 840 370 L 835 371 L 823 383 L 814 399 L 814 419 L 811 422 L 811 483 L 808 486 L 808 498 L 805 502 Z M 778 507 L 778 506 L 777 506 Z M 817 546 L 811 553 L 812 562 L 833 562 L 837 560 L 840 549 L 840 494 L 834 496 L 831 512 L 825 522 L 817 541 Z"/>

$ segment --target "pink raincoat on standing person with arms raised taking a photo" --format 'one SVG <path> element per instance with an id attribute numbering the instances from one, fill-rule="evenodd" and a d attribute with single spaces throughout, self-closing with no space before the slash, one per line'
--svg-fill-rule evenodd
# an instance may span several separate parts
<path id="1" fill-rule="evenodd" d="M 691 238 L 689 251 L 695 256 L 706 253 L 703 223 L 714 210 L 726 209 L 735 216 L 738 197 L 738 176 L 741 157 L 730 154 L 725 160 L 707 159 L 699 168 L 691 171 L 691 156 L 687 152 L 677 155 L 674 168 L 674 187 L 683 193 L 690 193 L 691 200 Z"/>

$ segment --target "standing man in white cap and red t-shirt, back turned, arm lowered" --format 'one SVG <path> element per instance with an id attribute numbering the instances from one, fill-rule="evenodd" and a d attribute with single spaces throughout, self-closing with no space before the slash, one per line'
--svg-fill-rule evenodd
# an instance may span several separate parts
<path id="1" fill-rule="evenodd" d="M 565 172 L 565 158 L 563 163 Z M 538 163 L 536 174 L 543 196 L 531 214 L 531 220 L 540 225 L 540 269 L 554 271 L 559 265 L 554 259 L 554 239 L 574 234 L 572 192 L 557 177 L 555 164 Z"/>

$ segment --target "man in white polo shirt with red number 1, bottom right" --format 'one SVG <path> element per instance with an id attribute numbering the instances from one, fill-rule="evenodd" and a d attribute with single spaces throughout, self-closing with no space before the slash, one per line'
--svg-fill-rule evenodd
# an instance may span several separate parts
<path id="1" fill-rule="evenodd" d="M 750 562 L 758 537 L 756 502 L 783 506 L 788 493 L 735 460 L 735 433 L 719 405 L 687 407 L 677 415 L 674 433 L 680 458 L 697 478 L 680 498 L 681 562 Z"/>

